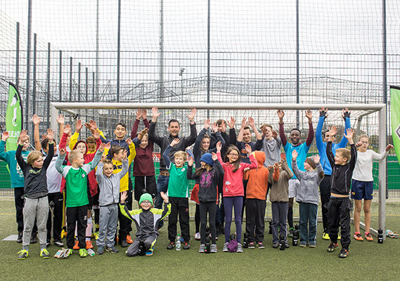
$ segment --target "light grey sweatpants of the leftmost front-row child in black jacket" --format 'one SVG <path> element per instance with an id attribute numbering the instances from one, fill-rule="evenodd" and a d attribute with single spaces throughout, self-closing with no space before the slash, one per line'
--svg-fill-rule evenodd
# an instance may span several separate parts
<path id="1" fill-rule="evenodd" d="M 49 216 L 49 200 L 47 196 L 36 199 L 25 198 L 24 209 L 24 233 L 22 235 L 22 248 L 28 249 L 30 244 L 30 236 L 34 226 L 34 219 L 37 221 L 37 230 L 39 233 L 39 243 L 41 249 L 46 248 L 47 239 L 47 217 Z"/>

